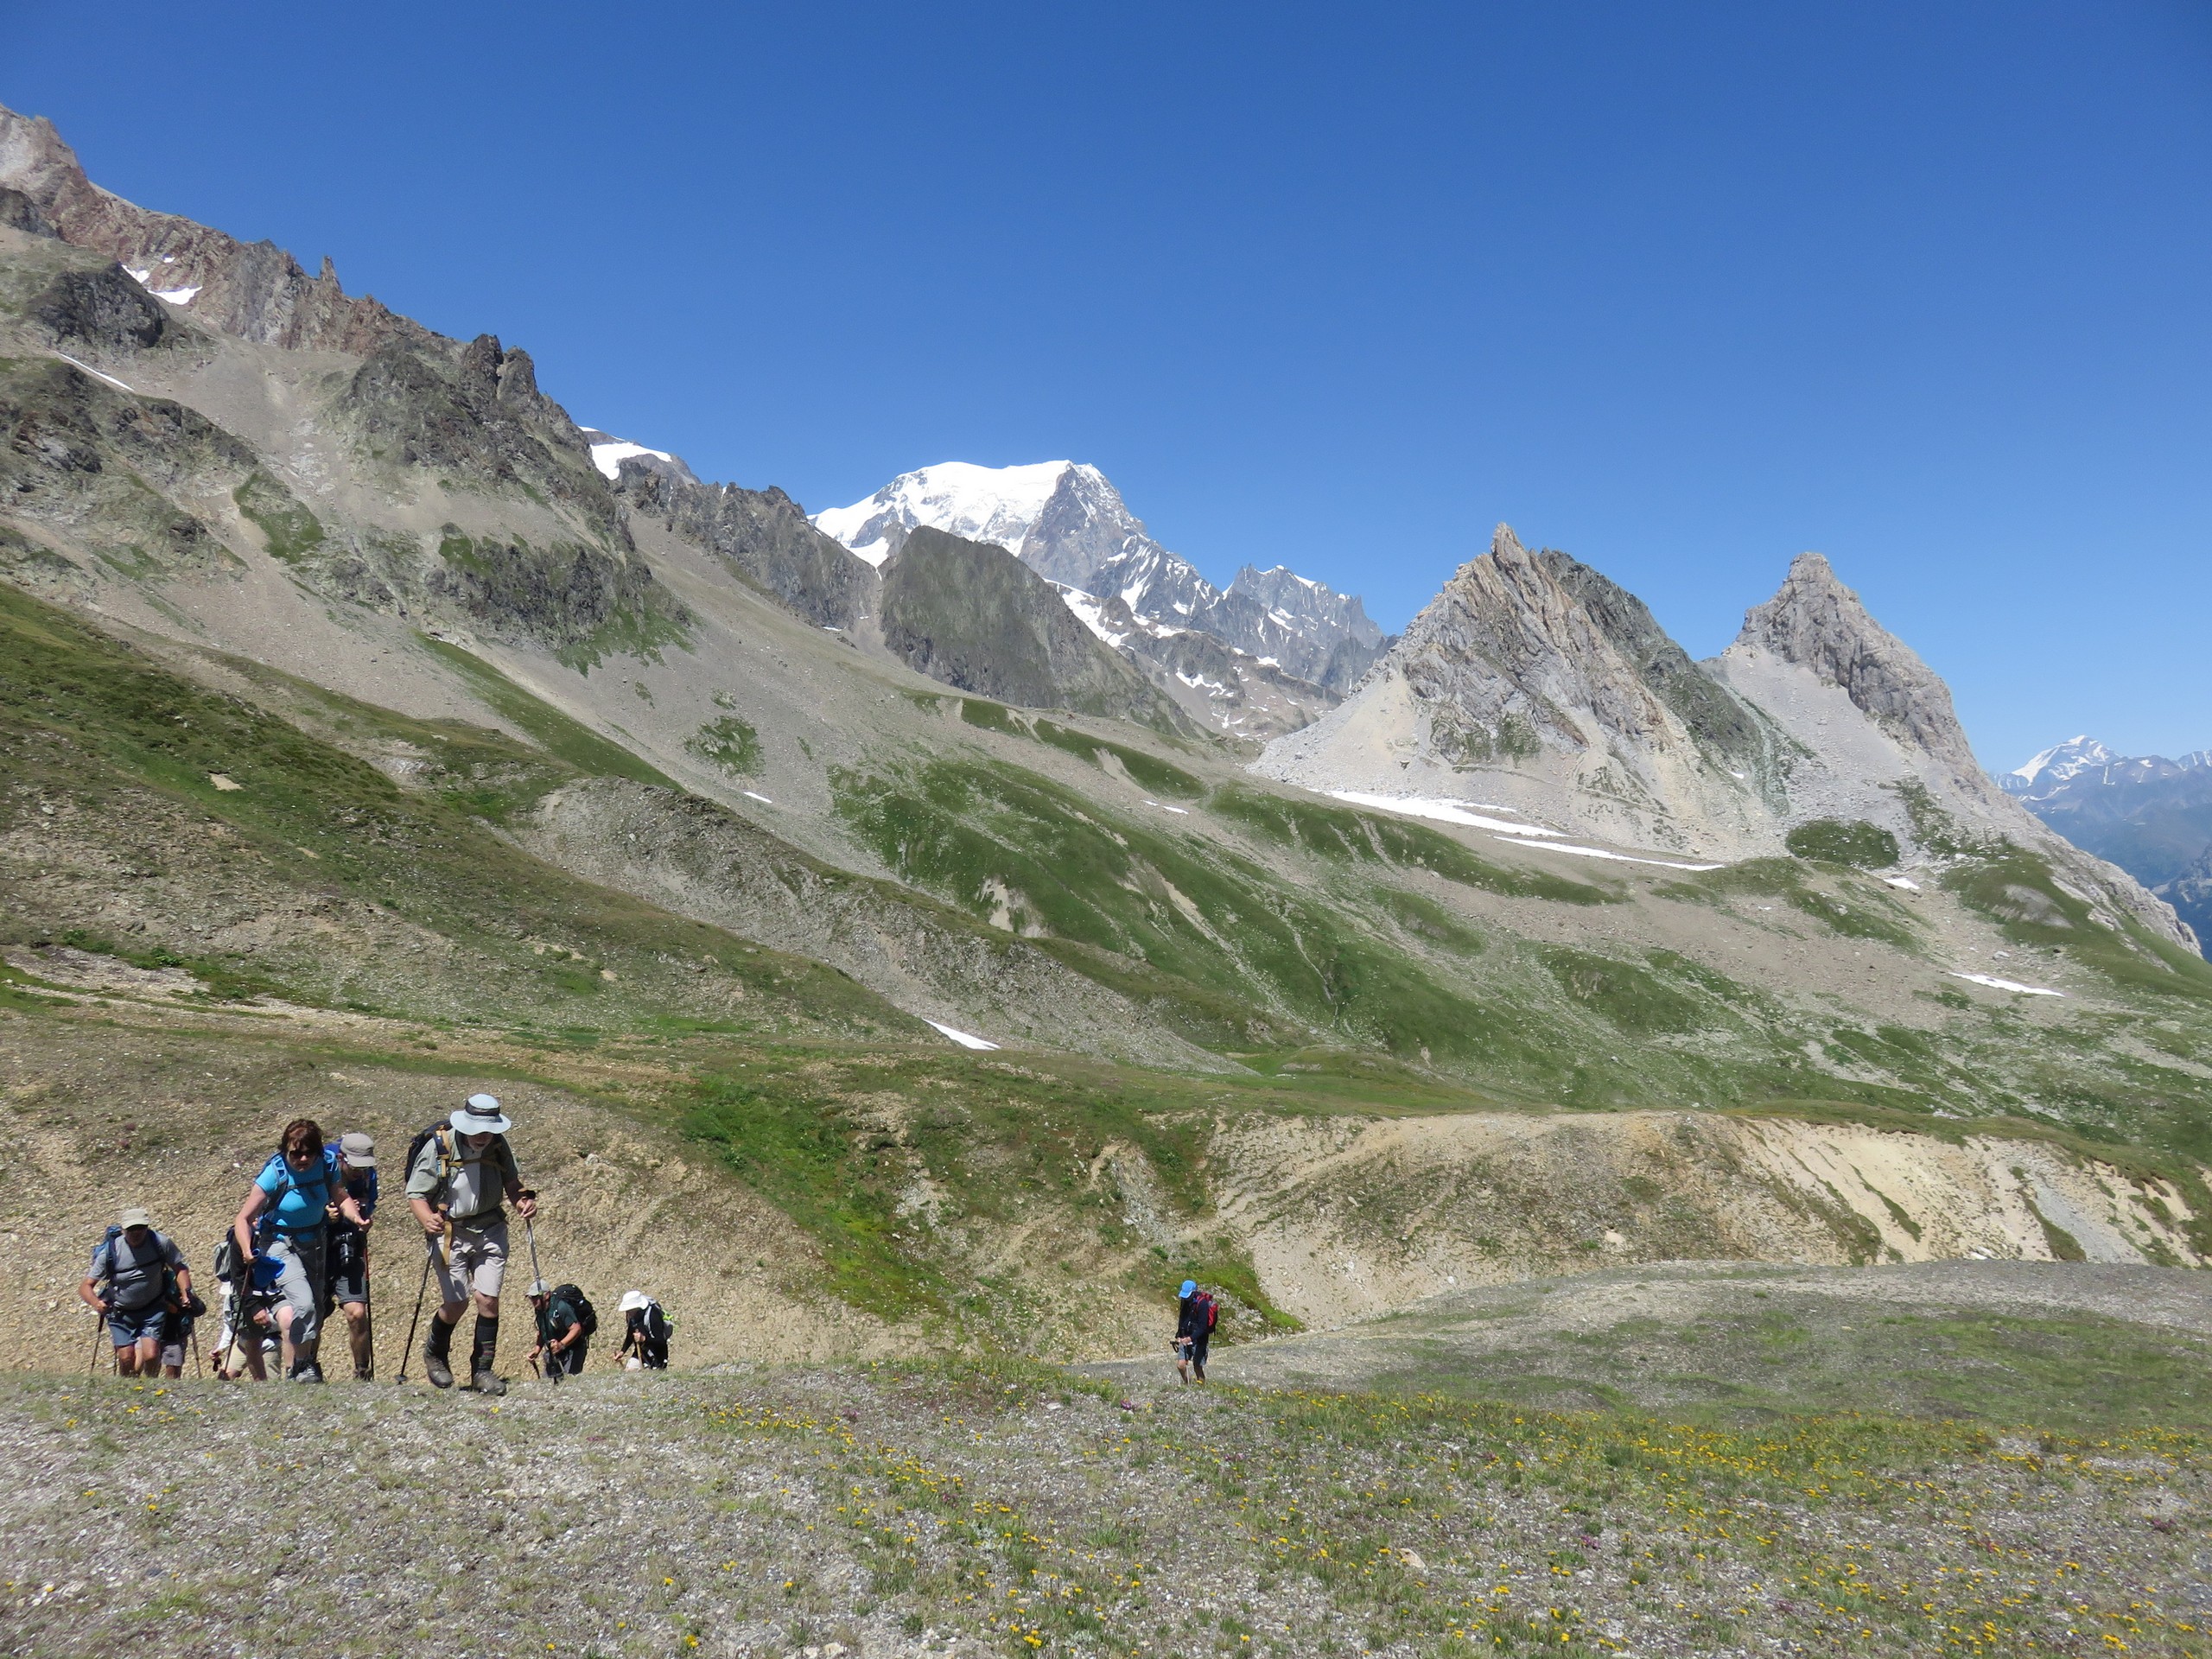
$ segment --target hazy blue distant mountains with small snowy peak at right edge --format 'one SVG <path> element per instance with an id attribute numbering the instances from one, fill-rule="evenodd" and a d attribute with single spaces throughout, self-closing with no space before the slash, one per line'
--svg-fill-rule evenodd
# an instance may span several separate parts
<path id="1" fill-rule="evenodd" d="M 2172 905 L 2199 940 L 2212 938 L 2212 750 L 2168 761 L 2070 737 L 1997 783 L 2073 845 Z"/>

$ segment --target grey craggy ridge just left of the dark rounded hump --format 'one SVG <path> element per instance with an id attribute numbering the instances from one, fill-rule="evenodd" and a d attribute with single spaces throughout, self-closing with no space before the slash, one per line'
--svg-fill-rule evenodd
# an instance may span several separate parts
<path id="1" fill-rule="evenodd" d="M 628 458 L 615 491 L 633 513 L 661 520 L 818 628 L 852 628 L 876 611 L 876 571 L 814 529 L 781 489 L 701 484 L 688 467 Z"/>

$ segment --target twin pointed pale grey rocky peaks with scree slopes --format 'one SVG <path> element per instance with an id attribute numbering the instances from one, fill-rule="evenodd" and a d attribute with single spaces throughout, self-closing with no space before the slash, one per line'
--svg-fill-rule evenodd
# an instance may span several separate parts
<path id="1" fill-rule="evenodd" d="M 1949 688 L 1818 553 L 1694 664 L 1639 599 L 1500 526 L 1354 697 L 1256 770 L 1369 799 L 1480 796 L 1548 834 L 1699 858 L 1774 854 L 1814 823 L 1867 825 L 1907 865 L 2011 841 L 2194 942 L 1986 779 Z"/>

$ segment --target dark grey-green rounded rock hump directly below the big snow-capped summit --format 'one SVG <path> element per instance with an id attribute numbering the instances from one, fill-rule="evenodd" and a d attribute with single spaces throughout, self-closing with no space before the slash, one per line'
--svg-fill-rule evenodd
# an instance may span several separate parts
<path id="1" fill-rule="evenodd" d="M 989 542 L 909 531 L 883 564 L 883 641 L 920 675 L 1026 708 L 1139 719 L 1183 714 L 1068 611 L 1022 560 Z"/>

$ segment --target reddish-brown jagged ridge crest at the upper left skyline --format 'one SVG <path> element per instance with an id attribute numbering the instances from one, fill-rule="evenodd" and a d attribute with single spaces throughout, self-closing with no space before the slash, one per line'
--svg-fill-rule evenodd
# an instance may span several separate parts
<path id="1" fill-rule="evenodd" d="M 27 204 L 13 212 L 106 254 L 153 290 L 184 294 L 192 319 L 223 334 L 356 356 L 392 338 L 436 338 L 374 299 L 349 299 L 327 259 L 310 276 L 272 241 L 241 243 L 102 190 L 44 117 L 0 108 L 0 188 Z"/>

